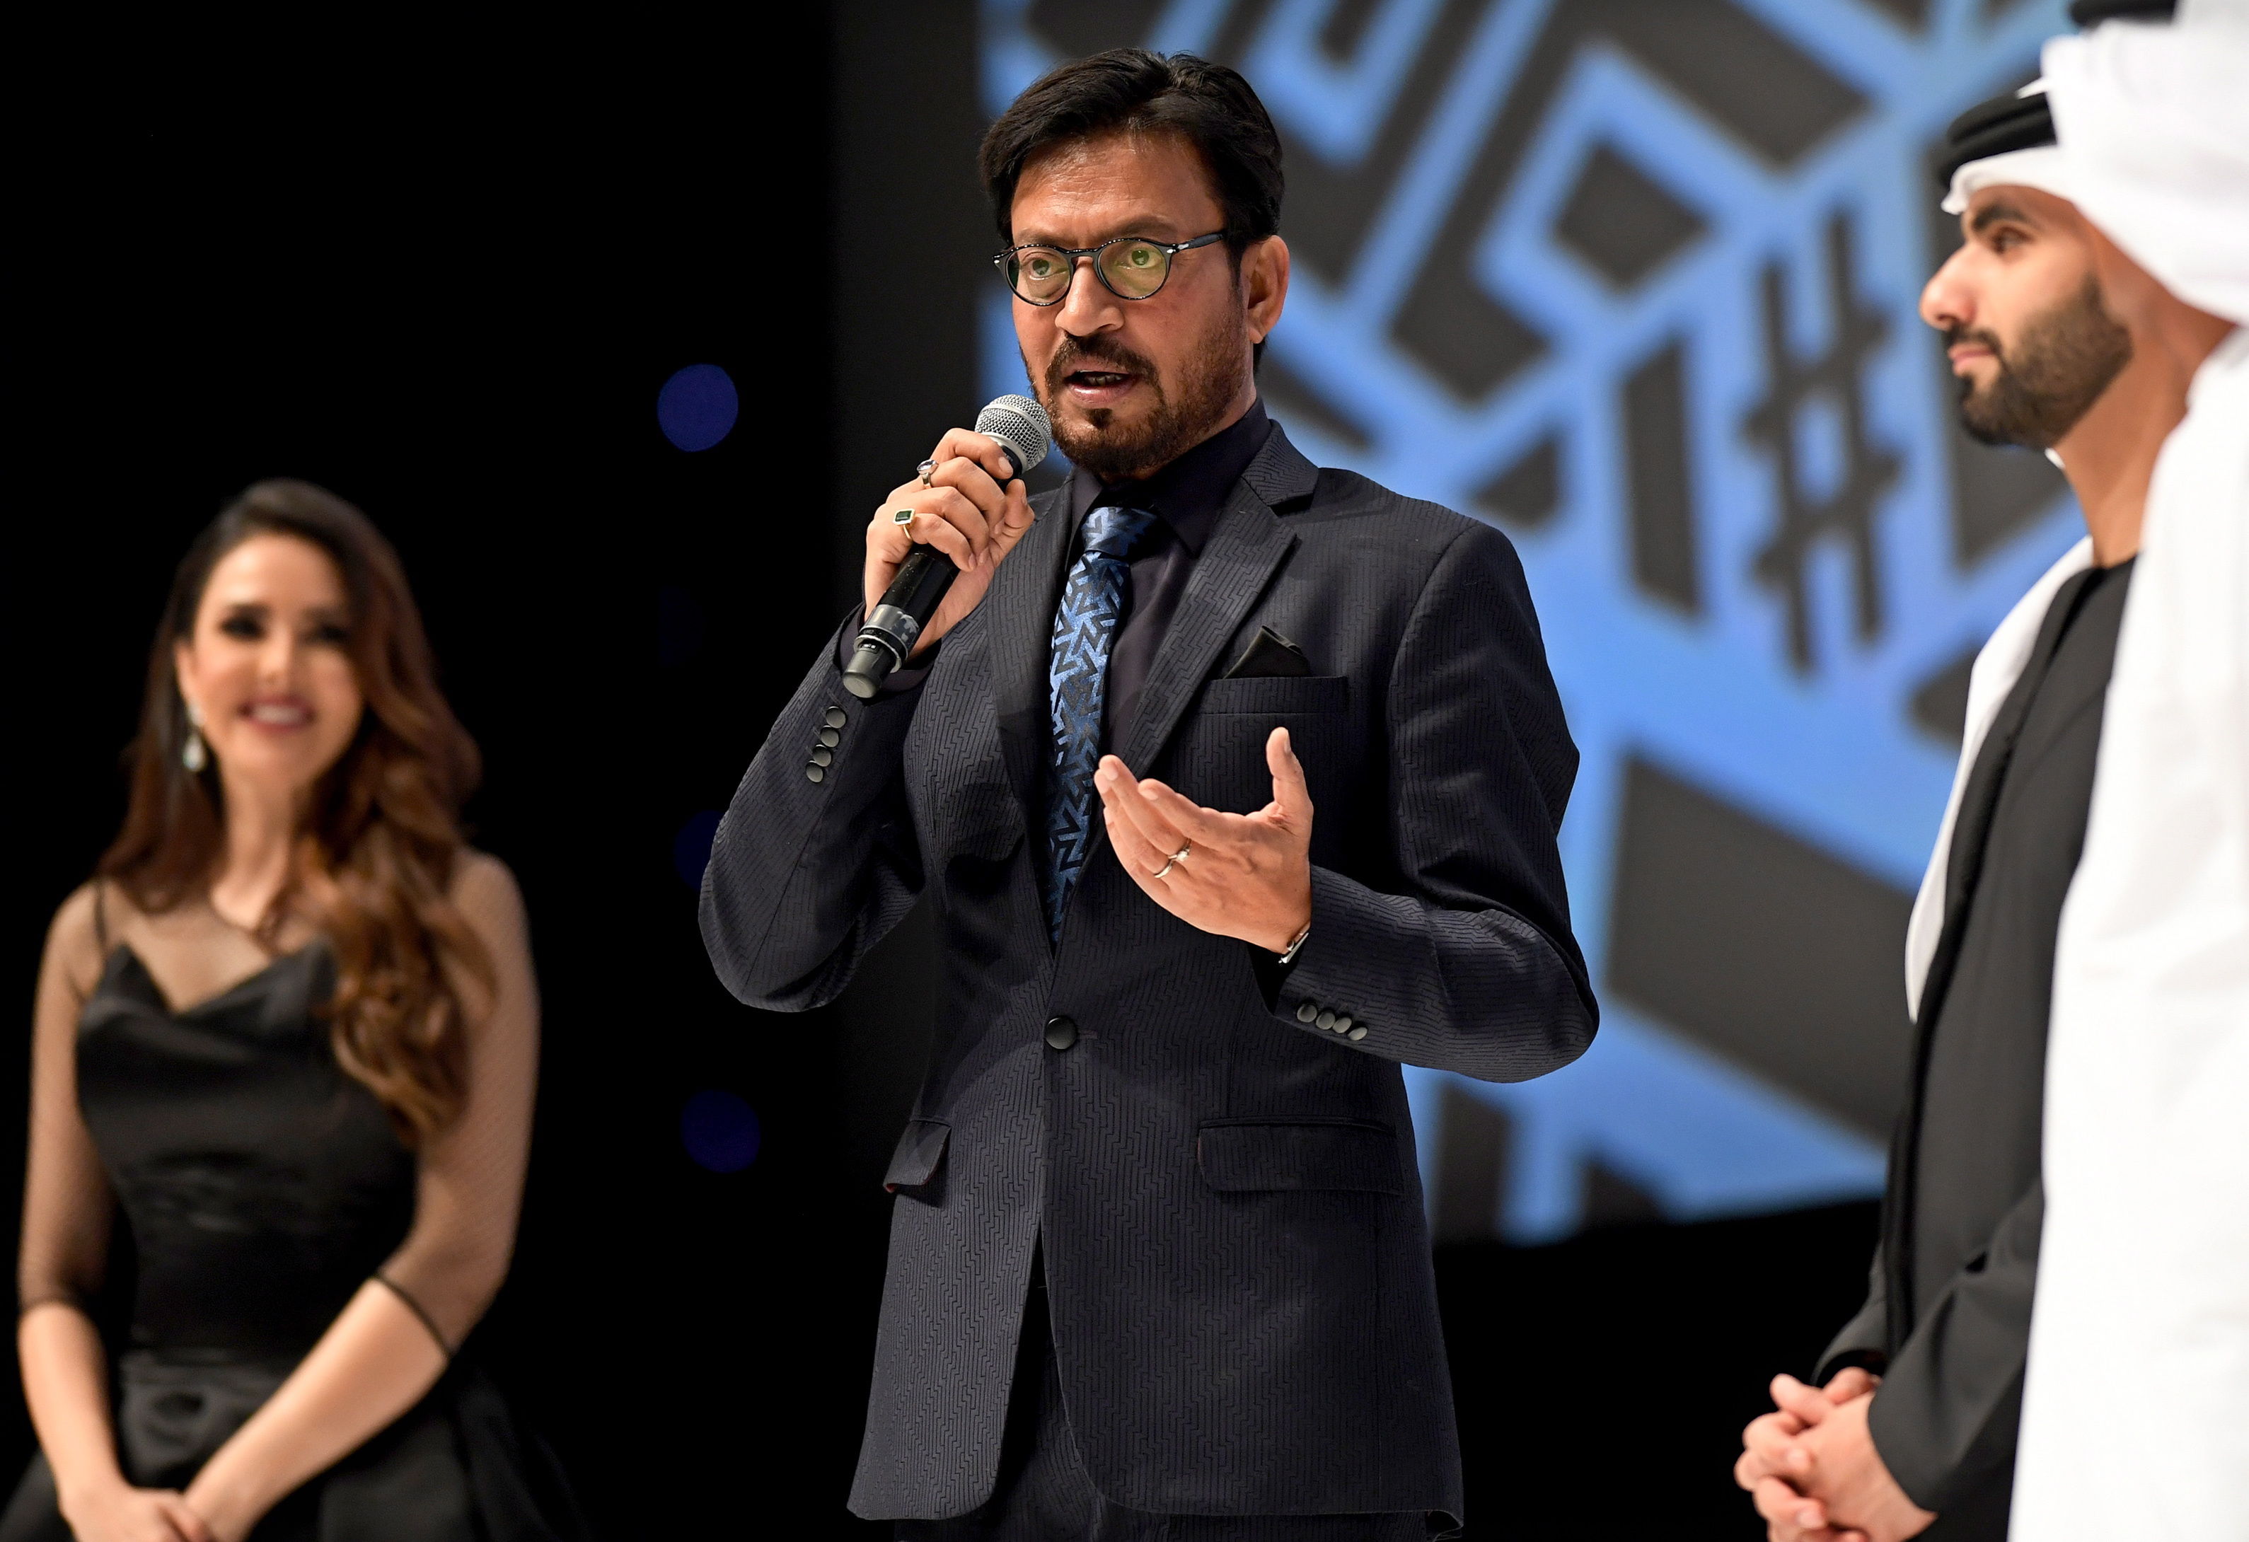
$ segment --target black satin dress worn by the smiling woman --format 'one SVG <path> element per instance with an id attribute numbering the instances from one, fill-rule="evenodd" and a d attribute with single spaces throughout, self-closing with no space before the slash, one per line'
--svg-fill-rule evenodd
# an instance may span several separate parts
<path id="1" fill-rule="evenodd" d="M 133 1234 L 117 1445 L 187 1488 L 313 1349 L 414 1221 L 414 1155 L 335 1063 L 324 944 L 171 1012 L 112 951 L 79 1018 L 79 1106 Z M 252 1542 L 578 1542 L 544 1445 L 457 1360 L 389 1430 L 274 1506 Z M 45 1457 L 0 1542 L 65 1542 Z"/>

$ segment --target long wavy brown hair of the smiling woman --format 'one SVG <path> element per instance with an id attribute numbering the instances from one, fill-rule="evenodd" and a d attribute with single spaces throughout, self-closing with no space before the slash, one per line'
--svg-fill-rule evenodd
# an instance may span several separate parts
<path id="1" fill-rule="evenodd" d="M 189 546 L 148 652 L 126 823 L 97 872 L 144 913 L 200 899 L 218 877 L 218 767 L 189 771 L 180 758 L 189 722 L 173 650 L 193 636 L 211 569 L 254 535 L 290 535 L 335 560 L 367 701 L 351 744 L 313 789 L 290 879 L 261 935 L 277 935 L 292 906 L 319 924 L 335 953 L 326 1003 L 335 1059 L 418 1144 L 461 1108 L 472 1012 L 461 982 L 486 996 L 493 982 L 484 944 L 450 899 L 479 758 L 439 695 L 398 553 L 358 508 L 308 481 L 261 481 Z"/>

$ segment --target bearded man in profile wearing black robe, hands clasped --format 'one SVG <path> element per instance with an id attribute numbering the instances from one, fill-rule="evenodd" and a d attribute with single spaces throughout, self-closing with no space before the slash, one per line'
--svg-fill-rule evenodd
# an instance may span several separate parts
<path id="1" fill-rule="evenodd" d="M 1923 292 L 1972 434 L 2058 454 L 2087 539 L 1977 659 L 1959 780 L 1907 937 L 1916 1050 L 1867 1306 L 1808 1387 L 1774 1380 L 1736 1466 L 1772 1538 L 2008 1531 L 2065 899 L 2105 778 L 2103 704 L 2148 483 L 2227 324 L 2076 207 L 2040 88 L 1954 121 L 1963 245 Z M 2067 967 L 2062 969 L 2067 976 Z M 2110 1535 L 2139 1535 L 2130 1526 Z"/>

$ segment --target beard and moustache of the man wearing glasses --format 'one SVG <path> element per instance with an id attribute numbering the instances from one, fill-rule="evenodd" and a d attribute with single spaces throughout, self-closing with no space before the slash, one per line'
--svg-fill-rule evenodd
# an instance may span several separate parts
<path id="1" fill-rule="evenodd" d="M 1248 380 L 1244 342 L 1239 317 L 1221 317 L 1187 357 L 1178 400 L 1172 400 L 1151 360 L 1107 337 L 1080 342 L 1064 335 L 1039 382 L 1039 400 L 1055 423 L 1055 443 L 1062 445 L 1062 454 L 1102 481 L 1145 477 L 1169 465 L 1210 438 L 1241 396 Z M 1082 416 L 1068 418 L 1062 414 L 1068 375 L 1100 366 L 1133 373 L 1156 393 L 1156 405 L 1145 418 L 1120 423 L 1111 407 L 1089 407 Z"/>

